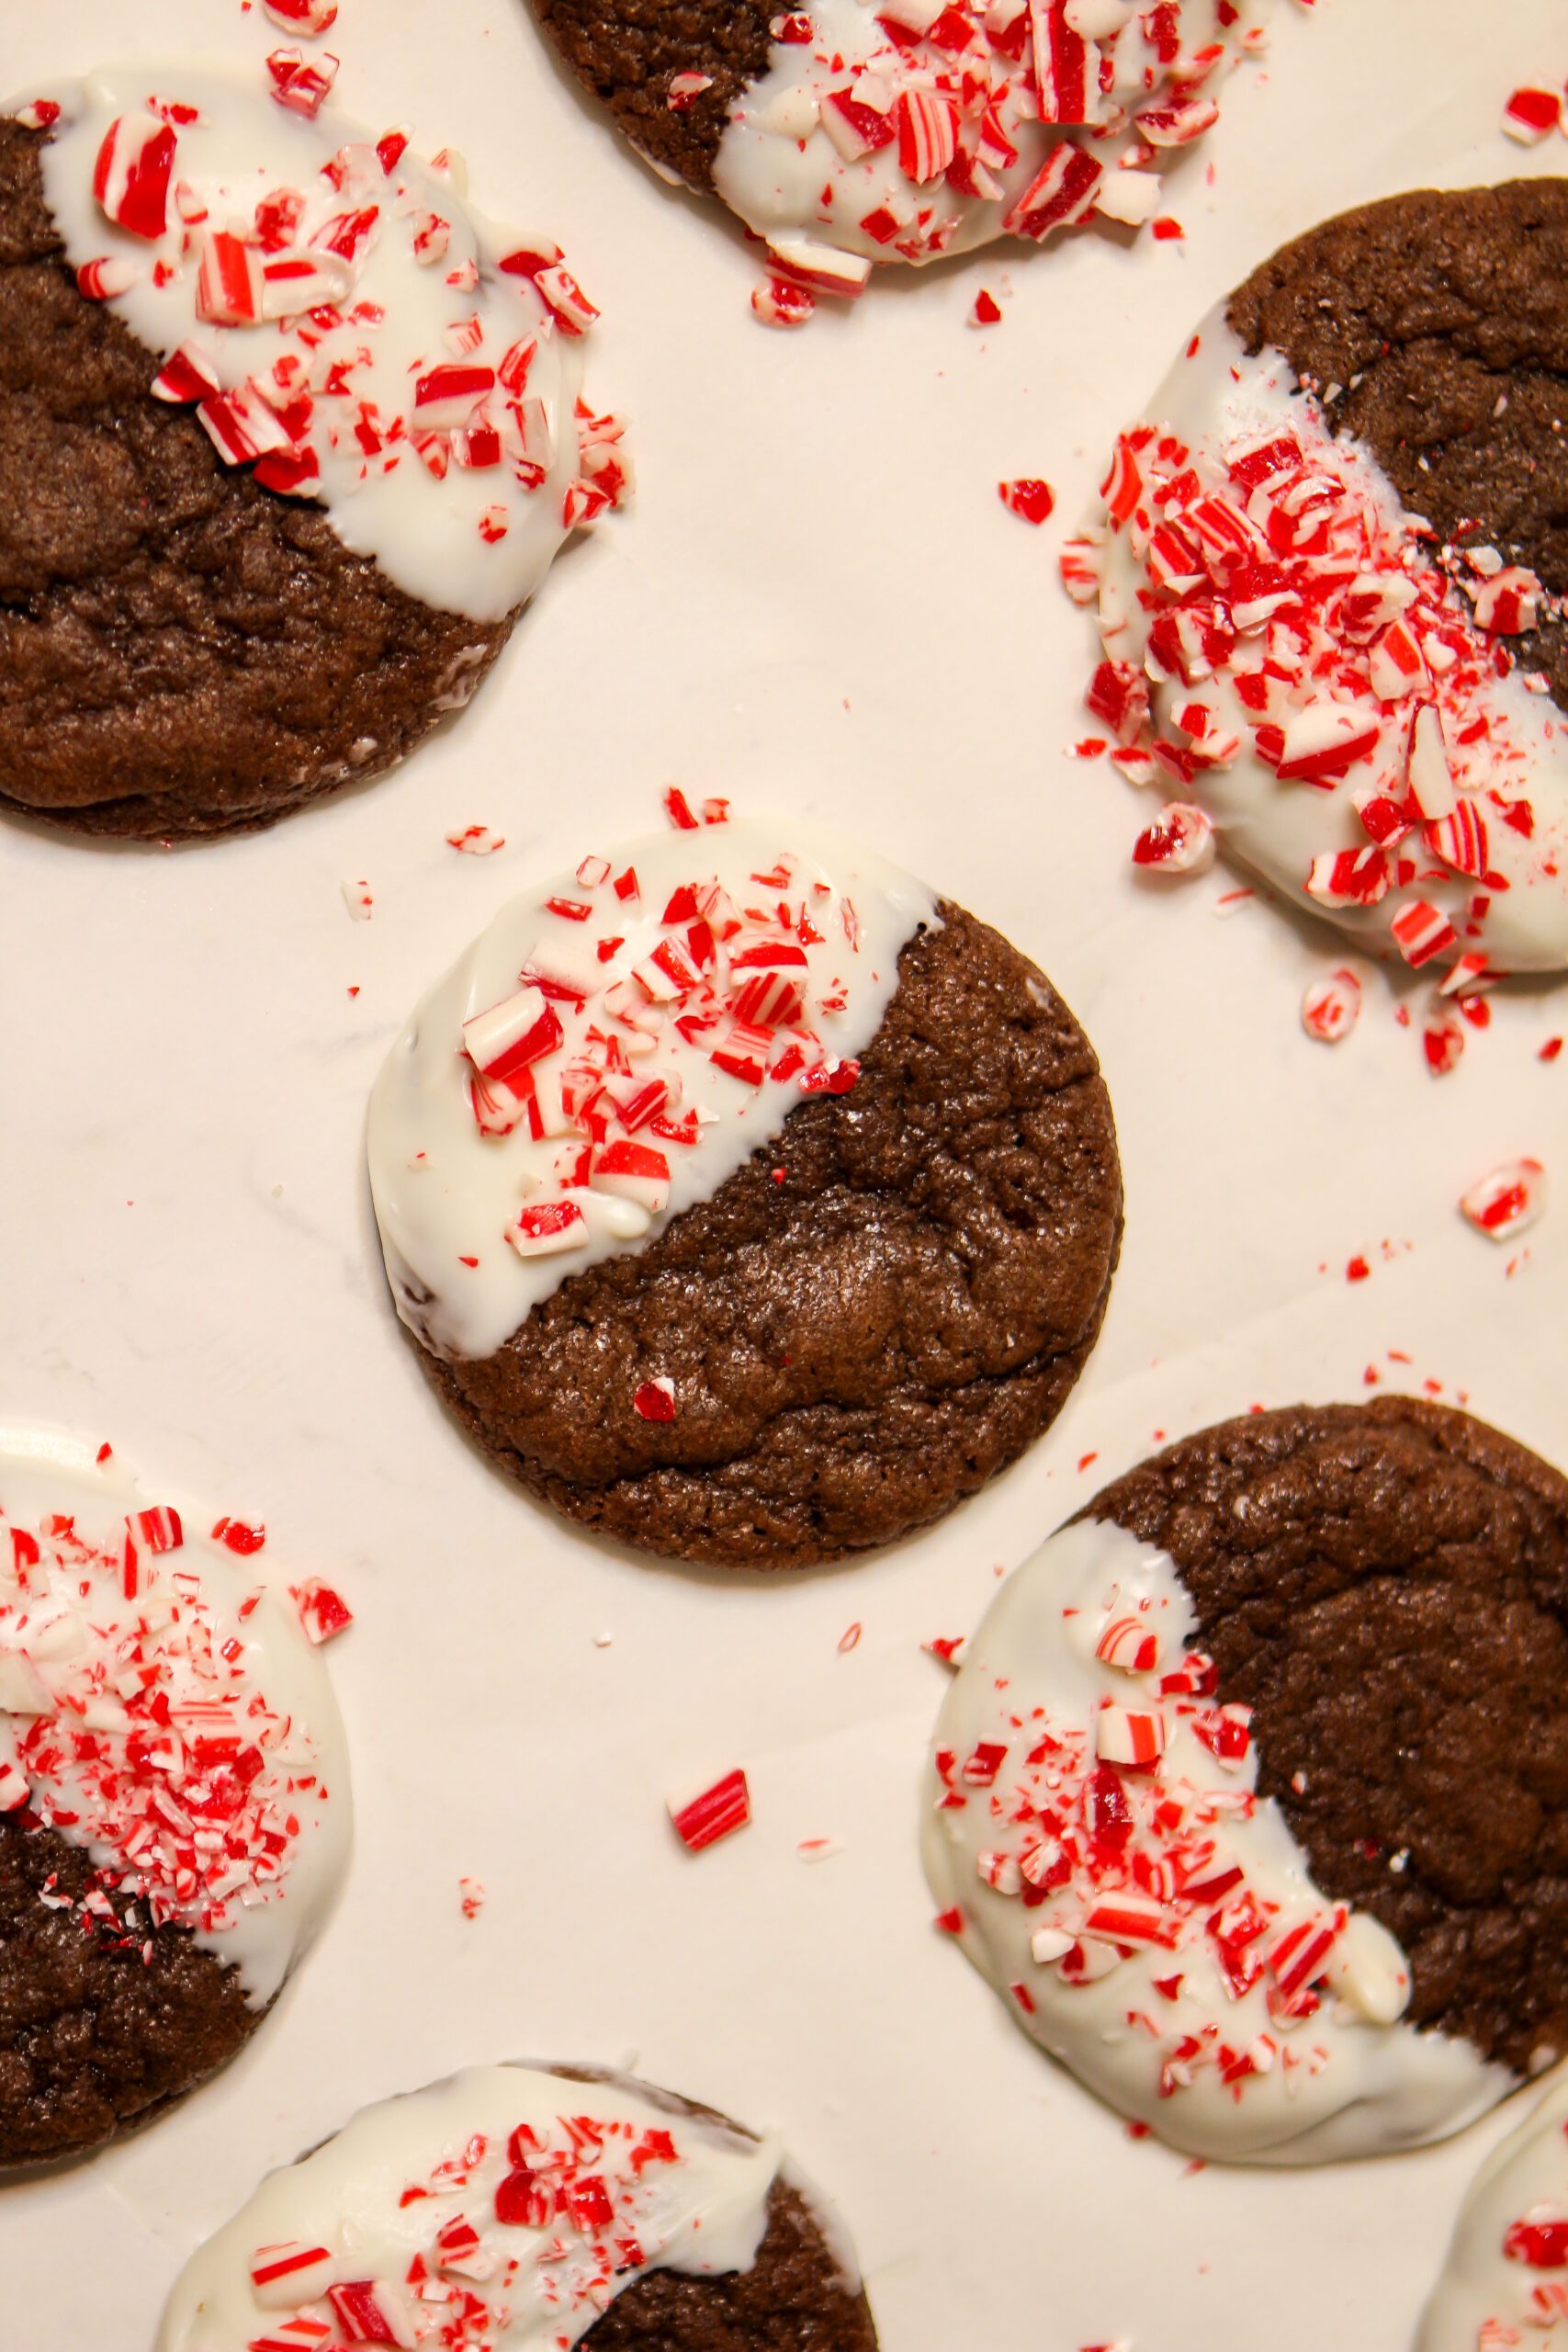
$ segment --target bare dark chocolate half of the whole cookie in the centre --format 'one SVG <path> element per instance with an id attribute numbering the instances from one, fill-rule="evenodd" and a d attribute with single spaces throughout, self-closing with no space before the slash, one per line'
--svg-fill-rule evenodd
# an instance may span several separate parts
<path id="1" fill-rule="evenodd" d="M 1060 1411 L 1121 1174 L 1093 1047 L 961 908 L 917 934 L 851 1094 L 491 1357 L 430 1369 L 498 1463 L 646 1552 L 809 1566 L 943 1517 Z M 783 1176 L 778 1174 L 783 1171 Z M 672 1421 L 637 1383 L 675 1381 Z"/>

